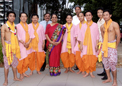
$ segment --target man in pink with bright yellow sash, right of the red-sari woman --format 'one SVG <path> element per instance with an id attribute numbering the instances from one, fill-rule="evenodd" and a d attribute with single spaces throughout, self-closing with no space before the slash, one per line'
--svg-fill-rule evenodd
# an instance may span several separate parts
<path id="1" fill-rule="evenodd" d="M 75 64 L 75 25 L 72 24 L 72 15 L 67 15 L 67 23 L 64 25 L 66 27 L 66 32 L 63 37 L 63 45 L 61 50 L 61 60 L 64 67 L 66 68 L 65 73 L 68 71 L 73 72 L 72 67 Z"/>

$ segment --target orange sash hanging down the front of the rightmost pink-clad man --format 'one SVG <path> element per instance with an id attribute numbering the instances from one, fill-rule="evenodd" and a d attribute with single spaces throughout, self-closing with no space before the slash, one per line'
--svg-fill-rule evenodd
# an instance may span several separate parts
<path id="1" fill-rule="evenodd" d="M 91 21 L 89 24 L 88 24 L 88 22 L 86 22 L 86 24 L 87 24 L 87 29 L 85 32 L 85 38 L 84 38 L 83 45 L 87 46 L 87 54 L 93 55 L 92 39 L 91 39 L 91 31 L 90 31 L 90 26 L 93 24 L 93 21 Z"/>

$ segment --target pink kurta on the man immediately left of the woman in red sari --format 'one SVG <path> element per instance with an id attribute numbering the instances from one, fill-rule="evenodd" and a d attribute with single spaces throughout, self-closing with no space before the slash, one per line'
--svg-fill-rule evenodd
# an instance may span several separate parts
<path id="1" fill-rule="evenodd" d="M 32 29 L 32 34 L 34 35 L 34 28 L 32 23 L 29 24 L 29 29 Z M 42 49 L 42 45 L 43 45 L 43 41 L 46 39 L 45 38 L 45 31 L 44 28 L 41 24 L 39 24 L 39 27 L 36 30 L 38 37 L 39 37 L 39 43 L 38 43 L 38 52 L 44 52 L 44 50 Z M 32 52 L 34 52 L 35 50 L 33 50 Z"/>

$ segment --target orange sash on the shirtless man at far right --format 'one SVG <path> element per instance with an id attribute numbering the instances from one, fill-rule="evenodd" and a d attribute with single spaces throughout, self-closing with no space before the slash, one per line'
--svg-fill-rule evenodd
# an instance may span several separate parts
<path id="1" fill-rule="evenodd" d="M 104 41 L 103 41 L 103 48 L 102 50 L 104 51 L 104 57 L 108 57 L 108 28 L 112 23 L 112 19 L 108 21 L 108 23 L 104 23 L 105 27 L 105 33 L 104 33 Z"/>

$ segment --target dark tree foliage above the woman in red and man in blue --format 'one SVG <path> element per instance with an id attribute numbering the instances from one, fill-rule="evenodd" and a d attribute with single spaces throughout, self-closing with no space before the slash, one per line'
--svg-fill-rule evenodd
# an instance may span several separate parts
<path id="1" fill-rule="evenodd" d="M 66 15 L 72 13 L 73 10 L 66 7 L 66 0 L 26 0 L 29 3 L 29 13 L 36 13 L 37 12 L 37 4 L 46 10 L 46 12 L 50 14 L 57 14 L 59 23 L 64 24 L 66 23 Z M 24 9 L 24 8 L 23 8 Z M 29 14 L 29 21 L 31 14 Z"/>

